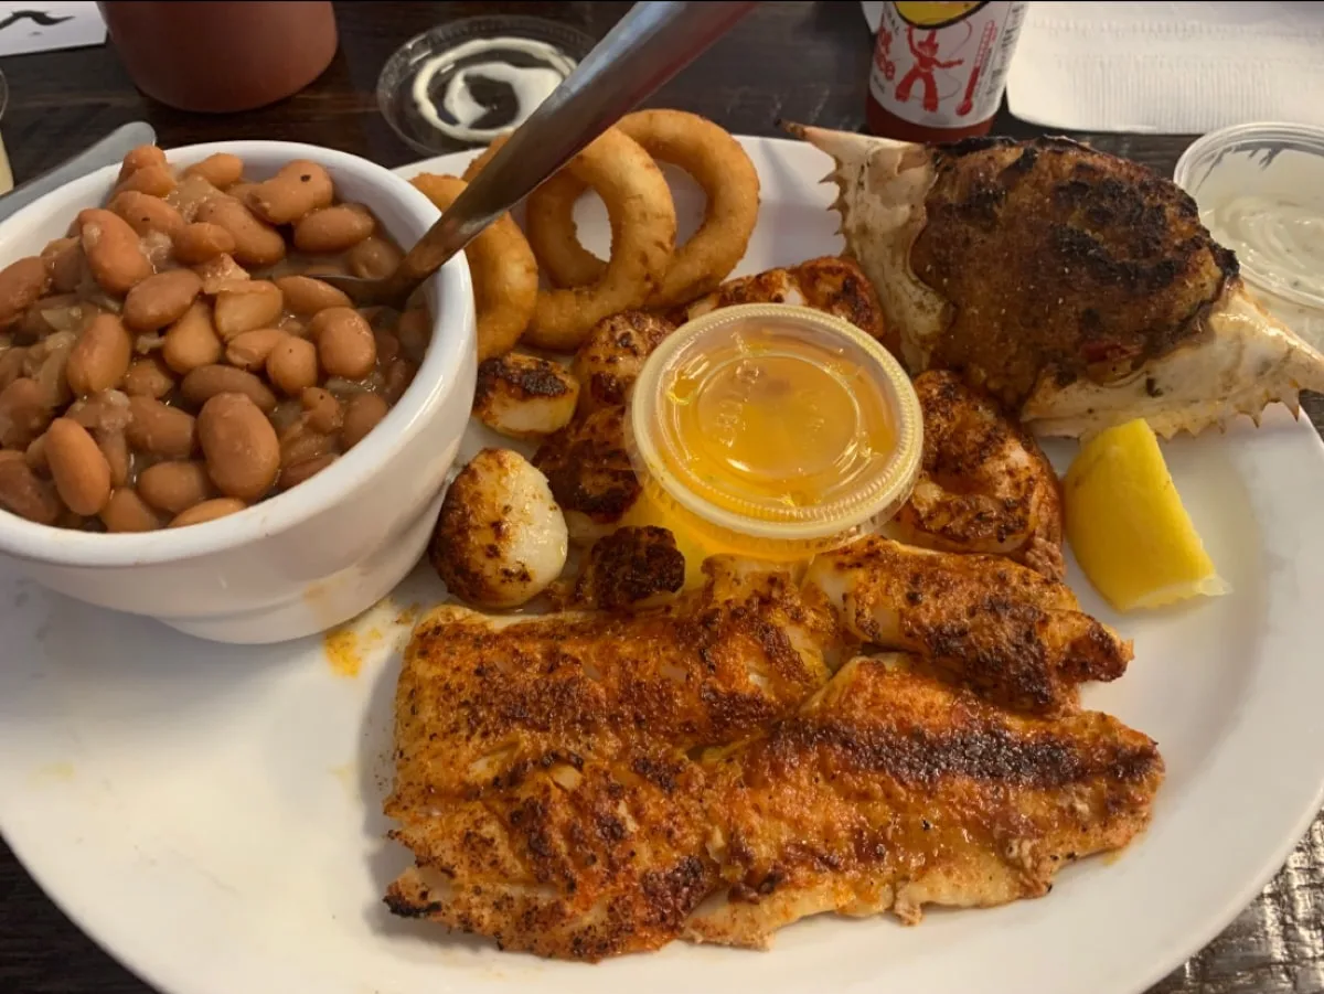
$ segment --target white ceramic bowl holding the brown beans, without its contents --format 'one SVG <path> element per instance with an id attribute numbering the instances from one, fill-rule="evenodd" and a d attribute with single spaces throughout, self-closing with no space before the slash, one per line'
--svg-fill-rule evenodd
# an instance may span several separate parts
<path id="1" fill-rule="evenodd" d="M 438 214 L 388 169 L 330 148 L 217 142 L 167 155 L 188 165 L 214 152 L 238 155 L 254 179 L 291 159 L 320 163 L 338 195 L 365 204 L 404 248 Z M 0 225 L 0 265 L 65 234 L 78 210 L 105 201 L 118 169 L 70 183 Z M 229 518 L 139 535 L 49 528 L 0 511 L 0 553 L 69 597 L 217 642 L 283 642 L 372 606 L 428 543 L 473 404 L 474 298 L 463 255 L 433 277 L 426 295 L 433 338 L 413 384 L 367 438 L 312 479 Z"/>

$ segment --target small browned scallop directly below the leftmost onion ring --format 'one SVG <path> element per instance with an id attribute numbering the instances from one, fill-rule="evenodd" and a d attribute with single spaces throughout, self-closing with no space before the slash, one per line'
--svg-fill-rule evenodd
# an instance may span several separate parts
<path id="1" fill-rule="evenodd" d="M 560 363 L 507 352 L 478 367 L 474 417 L 511 438 L 539 438 L 565 428 L 579 394 Z"/>

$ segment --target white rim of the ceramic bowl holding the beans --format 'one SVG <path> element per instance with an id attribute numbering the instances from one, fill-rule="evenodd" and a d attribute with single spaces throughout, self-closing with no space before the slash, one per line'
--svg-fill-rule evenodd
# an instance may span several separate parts
<path id="1" fill-rule="evenodd" d="M 245 161 L 250 158 L 273 163 L 308 159 L 331 171 L 332 179 L 338 172 L 354 173 L 375 183 L 383 189 L 384 200 L 397 201 L 406 216 L 417 218 L 418 230 L 410 236 L 414 240 L 441 216 L 428 197 L 391 169 L 334 148 L 301 142 L 241 139 L 163 151 L 172 164 L 193 163 L 208 155 L 230 152 Z M 94 193 L 109 192 L 103 188 L 118 171 L 119 163 L 97 169 L 16 212 L 0 224 L 0 253 L 8 257 L 11 253 L 4 249 L 9 233 L 21 229 L 25 220 L 49 210 L 53 200 L 68 200 L 70 209 L 77 212 L 90 205 Z M 373 204 L 368 206 L 373 213 L 380 213 Z M 409 238 L 401 241 L 408 244 Z M 15 244 L 24 250 L 21 237 Z M 15 254 L 13 258 L 21 257 Z M 106 533 L 57 528 L 0 511 L 0 553 L 20 560 L 85 568 L 177 563 L 238 549 L 286 532 L 340 503 L 359 487 L 371 484 L 376 470 L 426 426 L 426 416 L 457 386 L 466 372 L 466 353 L 473 351 L 474 294 L 465 254 L 457 253 L 424 285 L 424 293 L 433 314 L 432 340 L 413 383 L 372 433 L 311 479 L 237 514 L 188 528 L 160 528 L 152 532 Z M 446 334 L 441 332 L 442 326 L 446 327 Z"/>

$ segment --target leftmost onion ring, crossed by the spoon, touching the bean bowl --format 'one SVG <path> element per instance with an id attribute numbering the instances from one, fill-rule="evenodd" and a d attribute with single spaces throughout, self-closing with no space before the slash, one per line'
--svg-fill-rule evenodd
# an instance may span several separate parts
<path id="1" fill-rule="evenodd" d="M 413 185 L 446 210 L 465 183 L 458 176 L 414 176 Z M 510 352 L 538 304 L 538 261 L 510 214 L 502 214 L 465 249 L 478 311 L 478 361 Z"/>

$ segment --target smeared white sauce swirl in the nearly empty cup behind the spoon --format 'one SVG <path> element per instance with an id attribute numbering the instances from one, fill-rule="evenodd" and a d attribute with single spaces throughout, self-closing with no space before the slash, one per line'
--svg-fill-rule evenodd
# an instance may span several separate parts
<path id="1" fill-rule="evenodd" d="M 540 66 L 516 66 L 503 58 L 473 62 L 455 69 L 446 81 L 441 106 L 451 120 L 437 113 L 437 105 L 429 93 L 432 81 L 438 73 L 451 69 L 457 62 L 485 52 L 522 52 L 543 62 Z M 457 45 L 449 52 L 433 56 L 414 74 L 413 99 L 424 120 L 444 135 L 458 142 L 491 142 L 503 131 L 519 127 L 538 110 L 538 106 L 552 95 L 561 81 L 575 70 L 575 60 L 563 54 L 556 46 L 532 38 L 475 38 Z M 473 77 L 493 79 L 510 86 L 515 95 L 515 116 L 499 127 L 479 128 L 474 124 L 487 114 L 487 107 L 474 99 L 469 91 Z"/>

